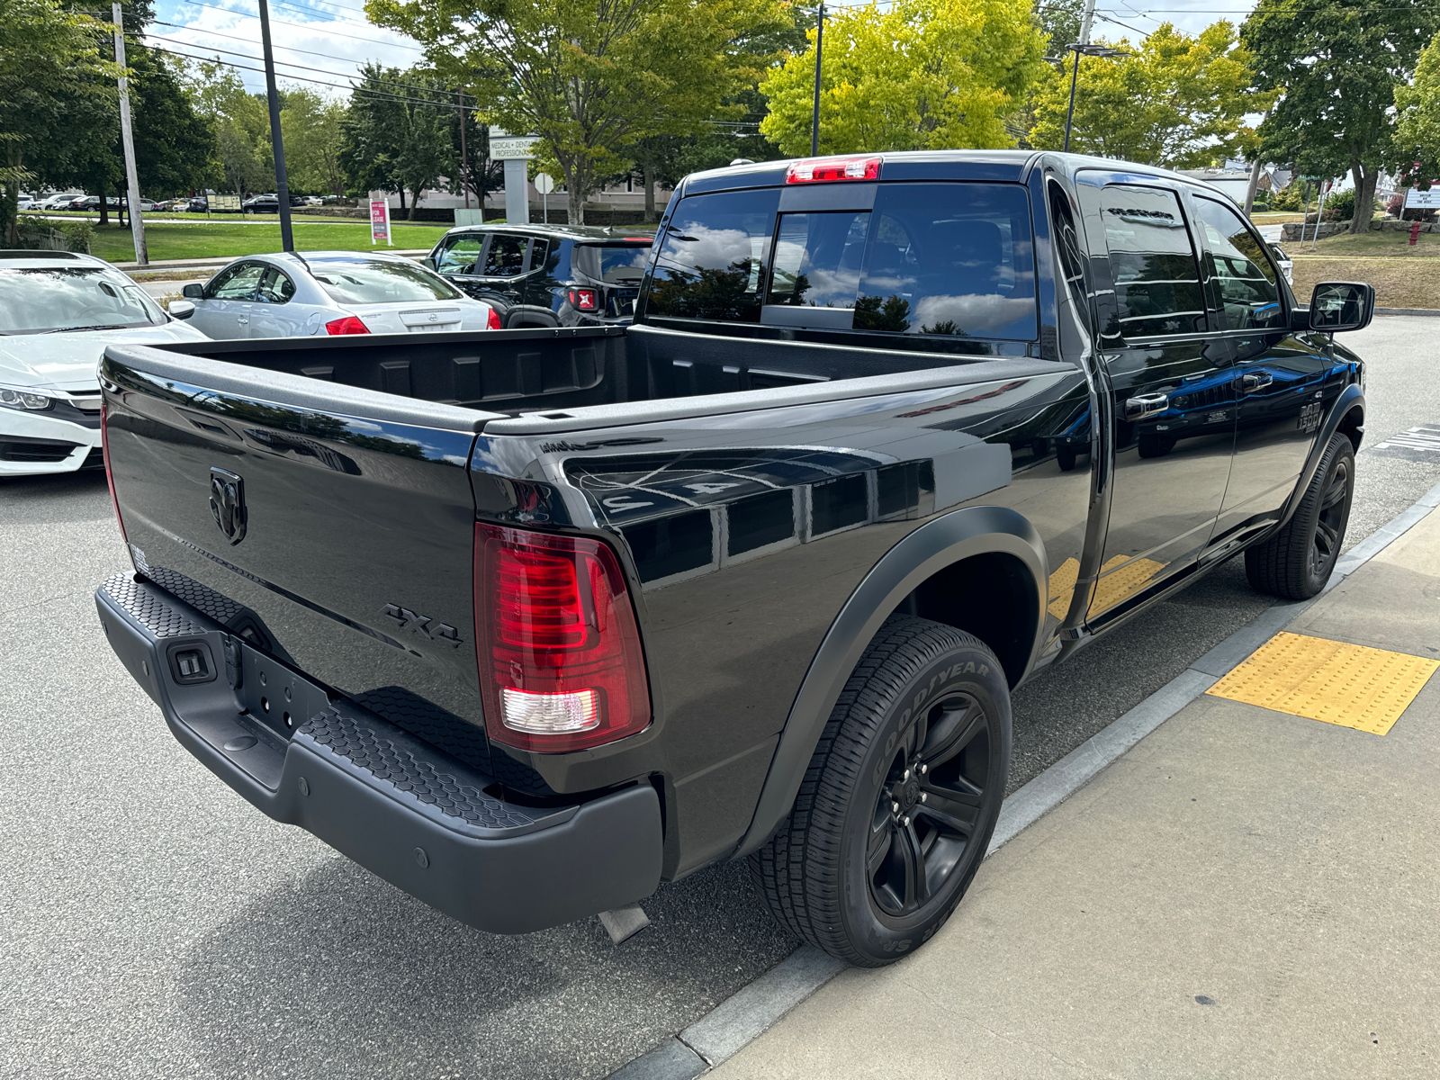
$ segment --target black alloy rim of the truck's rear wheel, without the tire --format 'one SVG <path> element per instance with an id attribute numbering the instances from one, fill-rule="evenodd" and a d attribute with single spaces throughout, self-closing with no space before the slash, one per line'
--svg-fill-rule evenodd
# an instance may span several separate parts
<path id="1" fill-rule="evenodd" d="M 981 827 L 989 727 L 979 701 L 955 694 L 910 727 L 880 788 L 865 868 L 870 896 L 909 916 L 945 891 Z"/>

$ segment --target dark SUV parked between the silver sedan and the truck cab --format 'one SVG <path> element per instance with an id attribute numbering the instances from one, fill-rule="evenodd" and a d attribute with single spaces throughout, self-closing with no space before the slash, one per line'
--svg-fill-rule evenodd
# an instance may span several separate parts
<path id="1" fill-rule="evenodd" d="M 451 229 L 429 265 L 516 327 L 624 325 L 635 314 L 649 236 L 563 225 Z"/>

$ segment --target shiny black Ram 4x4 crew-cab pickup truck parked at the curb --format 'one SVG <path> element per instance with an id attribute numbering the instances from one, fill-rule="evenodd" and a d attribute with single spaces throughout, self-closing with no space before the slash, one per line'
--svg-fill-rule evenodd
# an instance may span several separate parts
<path id="1" fill-rule="evenodd" d="M 701 173 L 629 327 L 108 348 L 99 618 L 220 779 L 465 923 L 749 857 L 881 965 L 975 874 L 1020 683 L 1241 552 L 1320 589 L 1372 311 L 1143 166 Z"/>

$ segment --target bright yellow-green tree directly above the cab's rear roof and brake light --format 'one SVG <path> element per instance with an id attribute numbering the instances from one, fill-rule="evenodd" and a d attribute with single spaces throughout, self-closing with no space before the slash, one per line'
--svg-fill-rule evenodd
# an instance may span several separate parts
<path id="1" fill-rule="evenodd" d="M 815 33 L 760 84 L 760 131 L 809 153 Z M 1044 71 L 1044 37 L 1022 0 L 897 0 L 825 20 L 821 153 L 1007 147 L 1005 117 Z"/>

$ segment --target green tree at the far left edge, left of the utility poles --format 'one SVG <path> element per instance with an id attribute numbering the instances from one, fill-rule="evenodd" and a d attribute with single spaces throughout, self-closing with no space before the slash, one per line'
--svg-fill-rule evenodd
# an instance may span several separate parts
<path id="1" fill-rule="evenodd" d="M 42 168 L 59 171 L 84 144 L 56 138 L 72 127 L 68 115 L 81 104 L 102 114 L 115 99 L 120 69 L 104 59 L 107 39 L 104 23 L 55 0 L 0 0 L 0 233 L 7 245 L 19 243 L 22 184 Z"/>

